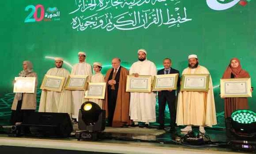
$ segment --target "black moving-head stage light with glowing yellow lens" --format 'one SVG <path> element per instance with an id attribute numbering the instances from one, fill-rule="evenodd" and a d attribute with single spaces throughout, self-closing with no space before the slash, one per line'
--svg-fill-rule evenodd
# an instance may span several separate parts
<path id="1" fill-rule="evenodd" d="M 102 138 L 102 131 L 106 125 L 106 111 L 94 102 L 86 101 L 81 105 L 78 115 L 78 128 L 75 137 L 84 140 L 98 140 Z"/>

